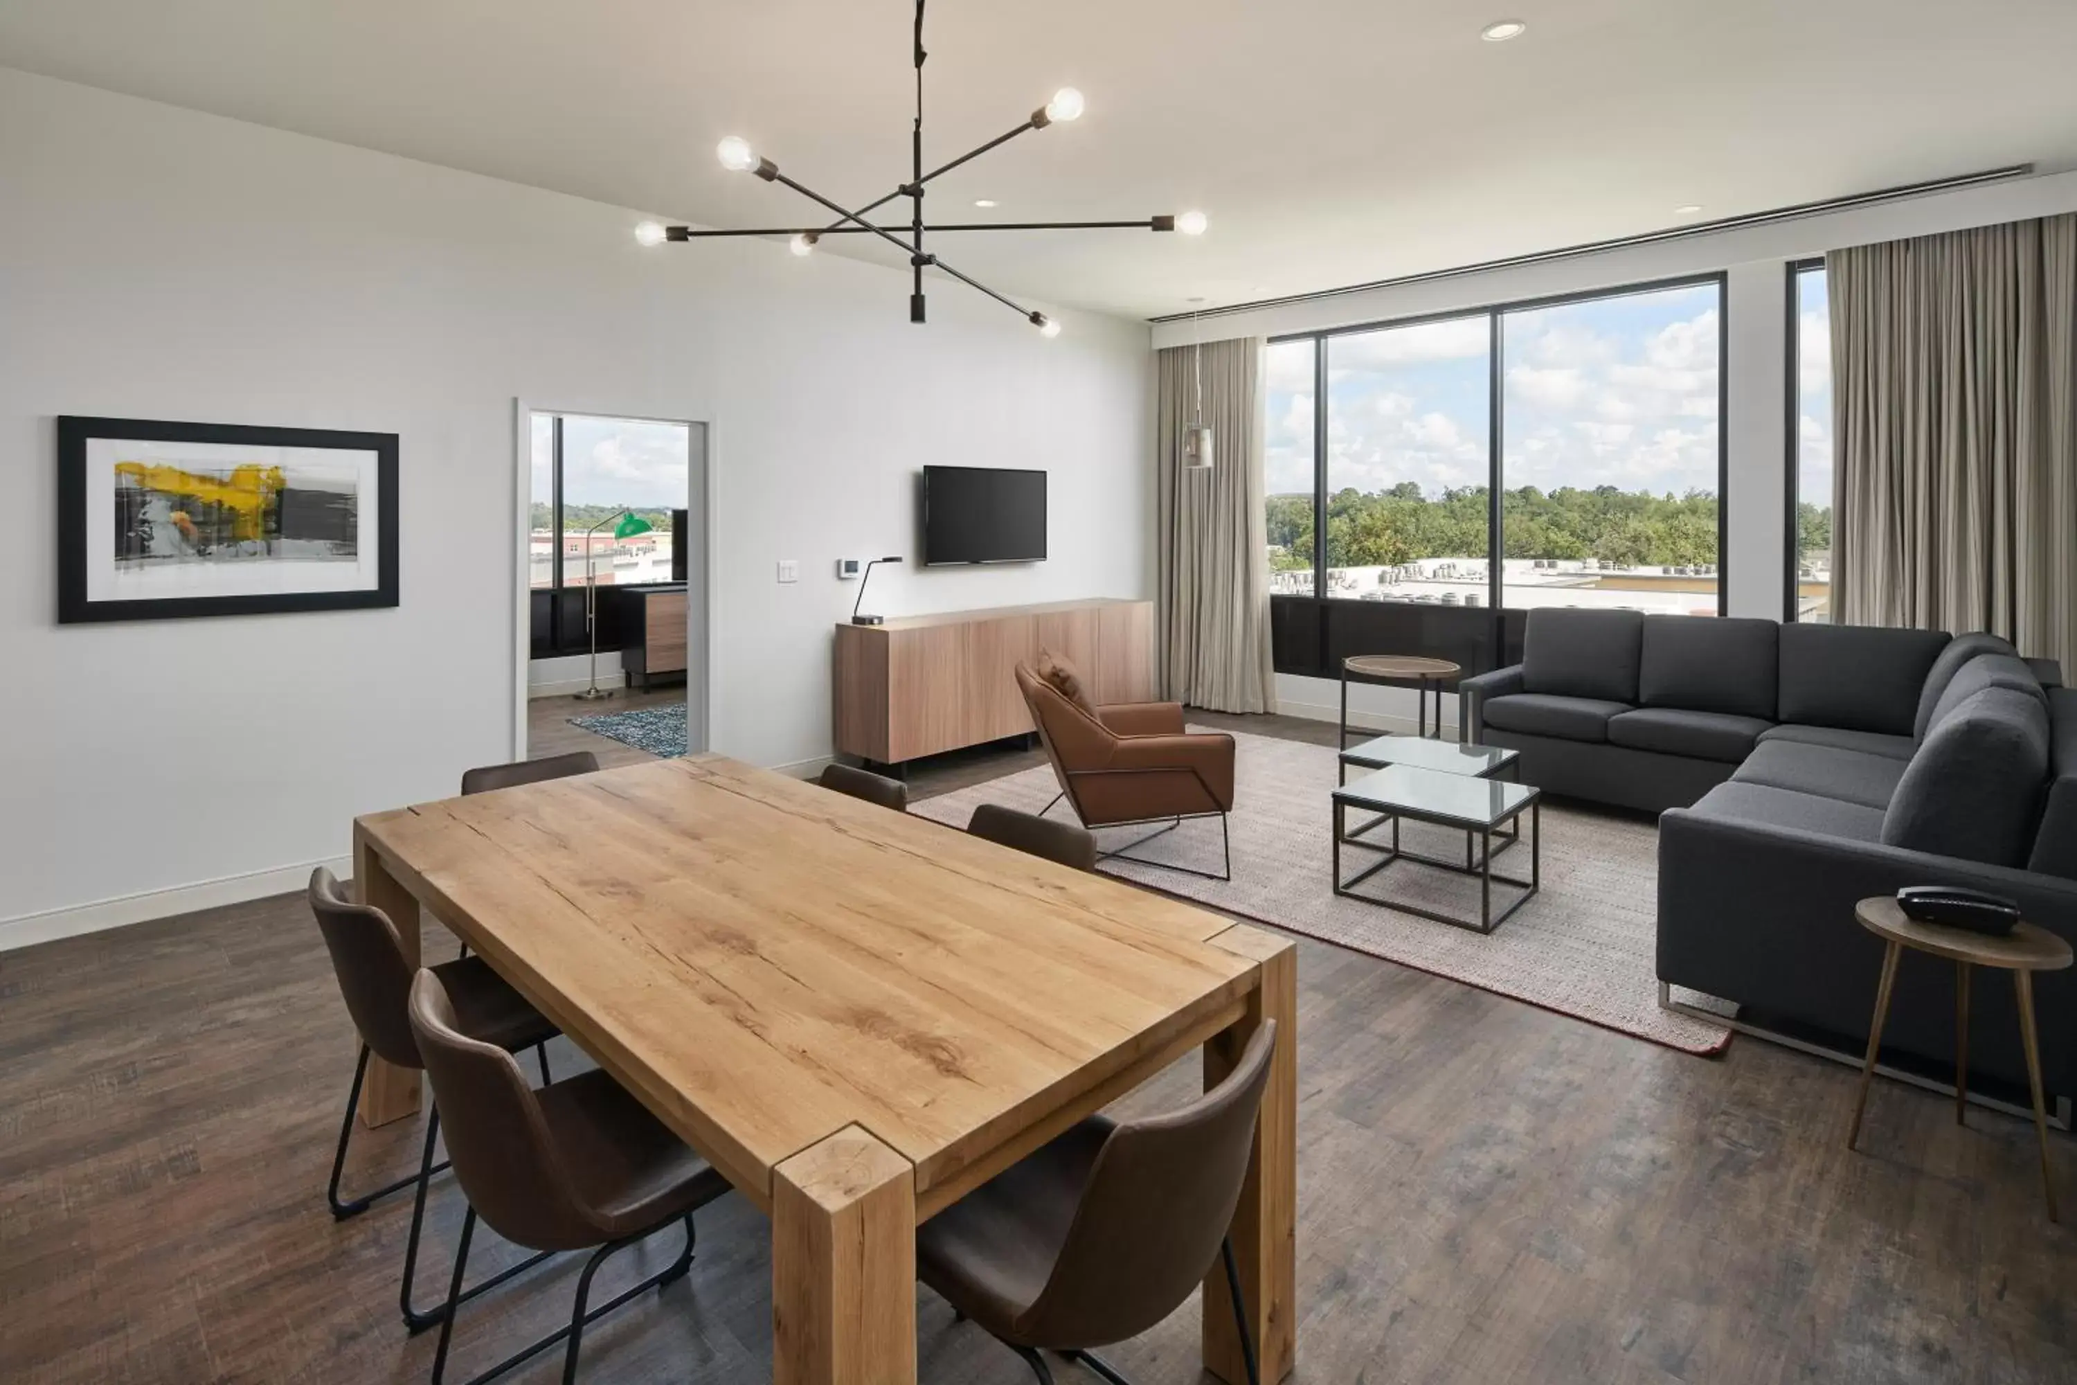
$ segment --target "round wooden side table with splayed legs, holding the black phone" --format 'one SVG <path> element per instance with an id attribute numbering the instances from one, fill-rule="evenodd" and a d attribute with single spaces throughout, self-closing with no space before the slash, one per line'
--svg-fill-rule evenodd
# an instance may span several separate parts
<path id="1" fill-rule="evenodd" d="M 2042 1047 L 2033 1032 L 2033 974 L 2060 972 L 2071 963 L 2071 945 L 2038 928 L 2019 924 L 2002 939 L 1942 928 L 1907 918 L 1890 897 L 1863 899 L 1853 905 L 1861 926 L 1888 943 L 1882 955 L 1882 982 L 1876 986 L 1876 1024 L 1867 1034 L 1867 1061 L 1861 1065 L 1861 1094 L 1853 1103 L 1853 1130 L 1846 1148 L 1861 1138 L 1861 1113 L 1867 1111 L 1867 1088 L 1876 1078 L 1876 1051 L 1882 1049 L 1882 1022 L 1890 1017 L 1890 986 L 1896 982 L 1896 959 L 1911 947 L 1954 963 L 1954 1123 L 1963 1123 L 1969 1101 L 1969 970 L 2000 968 L 2013 974 L 2019 990 L 2019 1038 L 2027 1049 L 2027 1086 L 2033 1090 L 2033 1136 L 2042 1146 L 2042 1192 L 2048 1194 L 2048 1221 L 2056 1221 L 2056 1182 L 2048 1171 L 2048 1111 L 2042 1103 Z"/>

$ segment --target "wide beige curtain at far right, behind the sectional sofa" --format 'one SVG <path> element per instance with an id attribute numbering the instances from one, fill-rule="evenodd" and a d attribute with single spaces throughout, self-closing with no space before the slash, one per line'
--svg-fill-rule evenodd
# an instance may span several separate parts
<path id="1" fill-rule="evenodd" d="M 1838 619 L 2077 675 L 2077 216 L 1834 251 L 1826 280 Z"/>

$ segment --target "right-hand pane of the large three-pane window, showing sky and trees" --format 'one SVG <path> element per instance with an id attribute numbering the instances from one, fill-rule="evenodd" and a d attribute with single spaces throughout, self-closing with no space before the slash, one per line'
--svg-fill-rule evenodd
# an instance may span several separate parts
<path id="1" fill-rule="evenodd" d="M 1502 316 L 1502 604 L 1716 615 L 1718 299 Z"/>

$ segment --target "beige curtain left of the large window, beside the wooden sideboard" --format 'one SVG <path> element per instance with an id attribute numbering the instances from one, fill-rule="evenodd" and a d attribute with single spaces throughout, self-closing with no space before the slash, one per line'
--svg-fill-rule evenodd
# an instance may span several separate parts
<path id="1" fill-rule="evenodd" d="M 1263 341 L 1203 347 L 1213 469 L 1184 467 L 1196 347 L 1159 355 L 1159 594 L 1155 646 L 1169 698 L 1217 712 L 1273 712 L 1269 532 L 1263 515 Z"/>

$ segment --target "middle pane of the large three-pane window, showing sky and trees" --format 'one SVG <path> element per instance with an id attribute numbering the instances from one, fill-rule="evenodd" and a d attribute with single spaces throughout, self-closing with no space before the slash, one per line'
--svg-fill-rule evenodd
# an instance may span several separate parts
<path id="1" fill-rule="evenodd" d="M 1485 604 L 1491 330 L 1327 338 L 1327 596 Z"/>

